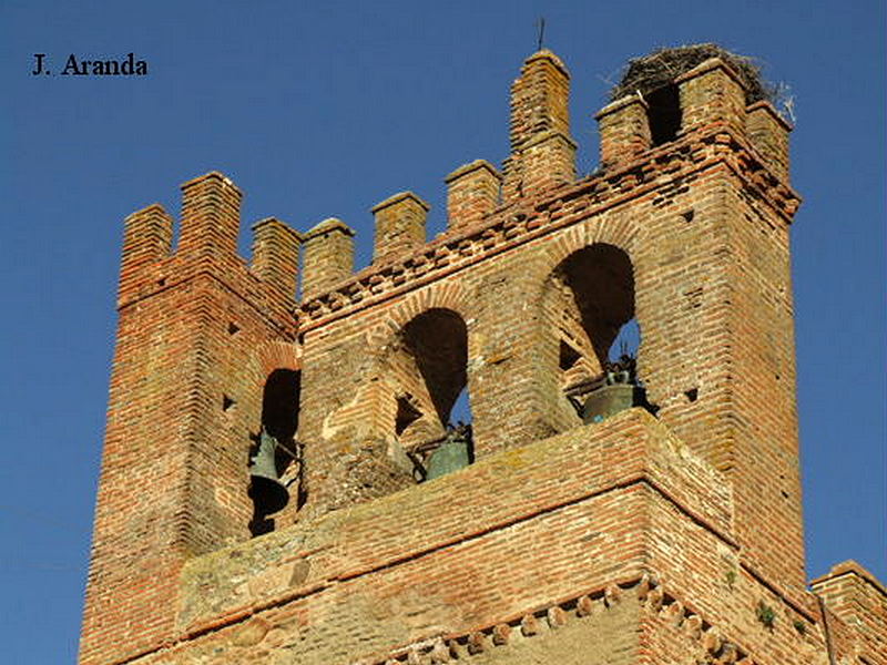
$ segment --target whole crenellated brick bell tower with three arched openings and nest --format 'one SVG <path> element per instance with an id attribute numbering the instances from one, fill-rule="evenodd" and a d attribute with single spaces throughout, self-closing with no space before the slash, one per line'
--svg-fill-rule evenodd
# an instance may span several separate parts
<path id="1" fill-rule="evenodd" d="M 218 173 L 175 250 L 126 219 L 82 665 L 887 663 L 877 580 L 806 589 L 791 127 L 745 59 L 661 51 L 578 177 L 569 81 L 531 55 L 502 173 L 447 176 L 432 242 L 374 206 L 356 274 L 335 218 L 244 262 Z"/>

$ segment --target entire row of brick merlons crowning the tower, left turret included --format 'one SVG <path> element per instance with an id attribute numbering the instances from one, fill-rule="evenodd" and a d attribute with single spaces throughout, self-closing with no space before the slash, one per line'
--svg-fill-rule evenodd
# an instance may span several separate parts
<path id="1" fill-rule="evenodd" d="M 360 273 L 360 278 L 374 280 L 374 293 L 379 293 L 379 276 L 387 283 L 390 278 L 387 273 L 409 272 L 412 257 L 419 265 L 438 265 L 441 259 L 443 265 L 450 265 L 446 257 L 452 247 L 441 249 L 448 244 L 455 245 L 459 255 L 473 254 L 463 246 L 467 229 L 476 236 L 501 224 L 509 214 L 521 222 L 529 221 L 546 206 L 542 203 L 546 198 L 563 201 L 564 187 L 572 192 L 593 188 L 603 203 L 608 191 L 623 195 L 626 187 L 649 183 L 657 177 L 655 170 L 662 165 L 657 158 L 661 154 L 667 155 L 669 167 L 674 170 L 680 162 L 692 166 L 716 154 L 727 158 L 724 149 L 732 146 L 746 153 L 736 155 L 736 167 L 756 181 L 756 186 L 766 190 L 764 196 L 784 209 L 787 218 L 794 214 L 799 198 L 787 185 L 791 125 L 766 100 L 746 106 L 747 76 L 740 75 L 727 61 L 710 58 L 671 81 L 661 81 L 660 88 L 648 93 L 649 100 L 639 90 L 601 109 L 595 114 L 601 166 L 598 173 L 581 181 L 575 178 L 575 144 L 570 137 L 567 110 L 569 79 L 563 62 L 550 51 L 534 53 L 526 61 L 521 76 L 512 85 L 511 155 L 506 160 L 504 175 L 489 162 L 476 160 L 446 177 L 448 228 L 443 238 L 426 243 L 429 207 L 411 192 L 391 196 L 371 208 L 376 217 L 374 262 Z M 708 141 L 708 149 L 701 151 L 711 136 L 716 137 L 717 145 Z M 675 142 L 691 146 L 692 157 L 686 154 L 675 157 Z M 663 145 L 670 147 L 659 150 Z M 221 267 L 236 263 L 233 259 L 239 232 L 241 191 L 223 174 L 212 172 L 183 184 L 182 192 L 181 241 L 175 255 L 186 257 L 183 263 L 191 266 L 206 267 L 210 262 Z M 520 209 L 501 214 L 518 202 Z M 533 204 L 528 206 L 528 202 Z M 551 209 L 552 205 L 557 204 L 549 203 L 546 207 Z M 153 273 L 163 272 L 156 268 L 171 255 L 172 223 L 157 204 L 128 218 L 121 304 L 144 295 L 151 282 L 145 275 L 152 268 Z M 337 296 L 327 295 L 333 287 L 364 297 L 364 285 L 354 284 L 354 231 L 341 221 L 324 221 L 304 237 L 279 222 L 259 223 L 254 233 L 253 273 L 273 283 L 274 290 L 289 301 L 295 294 L 298 255 L 304 243 L 303 310 L 312 313 L 309 318 L 326 305 L 340 309 L 335 305 Z M 272 265 L 274 277 L 268 273 Z M 380 274 L 379 266 L 389 267 Z M 318 297 L 324 300 L 312 303 Z"/>

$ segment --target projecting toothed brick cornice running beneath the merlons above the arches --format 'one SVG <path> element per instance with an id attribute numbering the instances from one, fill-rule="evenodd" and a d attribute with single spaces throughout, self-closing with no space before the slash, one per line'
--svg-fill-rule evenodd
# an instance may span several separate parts
<path id="1" fill-rule="evenodd" d="M 619 108 L 620 104 L 610 106 Z M 633 160 L 614 163 L 601 173 L 558 190 L 551 196 L 541 197 L 533 208 L 521 213 L 508 208 L 495 211 L 492 187 L 481 187 L 480 192 L 486 192 L 486 195 L 478 194 L 478 200 L 482 205 L 480 209 L 485 212 L 469 215 L 470 224 L 458 223 L 462 218 L 459 211 L 465 208 L 453 205 L 457 223 L 451 222 L 442 236 L 392 255 L 387 263 L 370 266 L 356 275 L 348 276 L 344 270 L 339 272 L 339 284 L 335 289 L 312 291 L 303 297 L 298 309 L 302 327 L 309 329 L 319 321 L 328 323 L 330 315 L 341 318 L 355 307 L 366 308 L 374 301 L 446 277 L 453 270 L 656 191 L 662 191 L 663 200 L 667 200 L 672 193 L 666 180 L 673 182 L 692 177 L 715 164 L 725 165 L 742 177 L 759 201 L 785 224 L 791 224 L 801 205 L 797 193 L 771 172 L 750 143 L 742 136 L 723 133 L 718 127 L 695 132 L 676 145 L 648 151 L 649 154 L 638 153 Z M 488 183 L 495 182 L 492 167 L 483 164 L 483 161 L 468 164 L 450 177 L 455 175 L 457 184 L 461 177 L 472 175 L 479 180 L 489 178 Z"/>

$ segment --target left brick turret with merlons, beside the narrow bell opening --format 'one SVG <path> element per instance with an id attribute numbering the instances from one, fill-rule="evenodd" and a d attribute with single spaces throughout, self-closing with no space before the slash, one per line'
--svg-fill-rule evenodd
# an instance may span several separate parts
<path id="1" fill-rule="evenodd" d="M 263 361 L 286 361 L 267 351 L 294 335 L 295 283 L 276 270 L 263 283 L 234 253 L 236 187 L 212 173 L 183 192 L 174 253 L 160 206 L 125 224 L 82 663 L 169 640 L 183 562 L 249 538 Z M 257 243 L 292 256 L 286 237 Z"/>

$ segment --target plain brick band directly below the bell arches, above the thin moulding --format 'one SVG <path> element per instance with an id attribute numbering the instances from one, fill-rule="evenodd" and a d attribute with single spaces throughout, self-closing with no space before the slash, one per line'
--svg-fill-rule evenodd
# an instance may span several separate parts
<path id="1" fill-rule="evenodd" d="M 181 579 L 177 624 L 185 635 L 215 630 L 245 613 L 323 593 L 608 493 L 631 494 L 640 485 L 730 545 L 728 484 L 652 416 L 631 409 L 192 560 Z M 461 505 L 453 507 L 455 495 Z M 589 545 L 589 555 L 595 546 L 601 545 Z M 613 555 L 601 552 L 598 556 Z"/>

